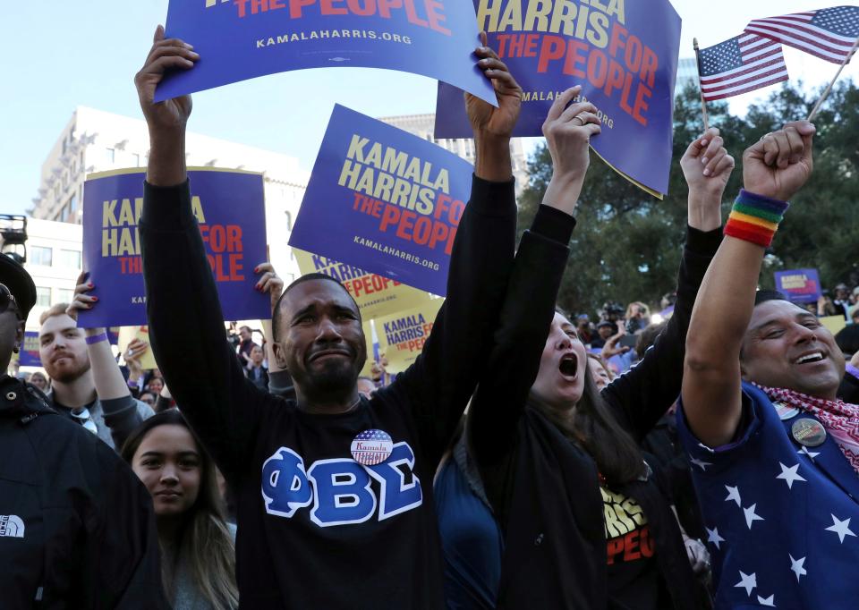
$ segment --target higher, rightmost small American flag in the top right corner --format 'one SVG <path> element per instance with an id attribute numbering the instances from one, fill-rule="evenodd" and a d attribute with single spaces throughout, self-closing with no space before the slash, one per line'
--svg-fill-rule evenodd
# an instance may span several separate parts
<path id="1" fill-rule="evenodd" d="M 833 64 L 842 64 L 859 38 L 859 6 L 756 19 L 746 32 L 796 47 Z"/>

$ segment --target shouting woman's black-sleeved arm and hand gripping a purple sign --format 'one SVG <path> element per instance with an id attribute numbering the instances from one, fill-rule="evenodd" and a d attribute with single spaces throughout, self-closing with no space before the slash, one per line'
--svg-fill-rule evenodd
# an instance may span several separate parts
<path id="1" fill-rule="evenodd" d="M 591 104 L 566 104 L 581 88 L 558 97 L 543 124 L 553 173 L 532 229 L 523 235 L 489 363 L 468 417 L 472 454 L 484 473 L 515 448 L 515 430 L 540 370 L 540 357 L 555 315 L 555 301 L 569 256 L 567 243 L 590 163 L 591 137 L 600 122 Z M 484 477 L 489 487 L 503 477 Z M 498 498 L 498 490 L 490 489 Z"/>

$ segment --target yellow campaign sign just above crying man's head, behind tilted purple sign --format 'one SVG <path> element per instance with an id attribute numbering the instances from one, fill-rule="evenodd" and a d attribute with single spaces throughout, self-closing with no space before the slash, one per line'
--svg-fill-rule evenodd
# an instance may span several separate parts
<path id="1" fill-rule="evenodd" d="M 421 307 L 432 299 L 428 292 L 400 284 L 384 275 L 372 274 L 353 265 L 341 263 L 333 258 L 311 254 L 297 248 L 293 248 L 293 253 L 302 274 L 323 273 L 343 284 L 358 303 L 361 317 L 365 320 L 387 316 L 404 309 Z"/>

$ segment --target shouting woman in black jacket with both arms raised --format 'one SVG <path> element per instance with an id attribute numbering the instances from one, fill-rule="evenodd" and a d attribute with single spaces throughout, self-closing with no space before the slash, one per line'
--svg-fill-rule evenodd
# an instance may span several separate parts
<path id="1" fill-rule="evenodd" d="M 497 606 L 691 610 L 699 606 L 676 517 L 636 442 L 679 393 L 685 328 L 720 241 L 734 160 L 718 131 L 687 151 L 690 226 L 675 314 L 638 366 L 600 394 L 574 325 L 555 310 L 588 143 L 600 133 L 592 106 L 565 110 L 576 94 L 561 96 L 544 124 L 554 174 L 538 217 L 552 222 L 535 220 L 523 236 L 468 414 L 472 459 L 503 536 Z"/>

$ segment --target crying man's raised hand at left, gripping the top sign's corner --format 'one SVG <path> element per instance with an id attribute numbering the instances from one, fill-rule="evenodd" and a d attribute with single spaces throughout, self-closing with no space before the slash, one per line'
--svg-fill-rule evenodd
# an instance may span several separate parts
<path id="1" fill-rule="evenodd" d="M 178 38 L 164 38 L 164 27 L 158 26 L 152 48 L 140 72 L 134 76 L 140 107 L 151 131 L 183 131 L 191 115 L 191 96 L 175 97 L 155 103 L 155 89 L 164 79 L 165 72 L 172 69 L 188 70 L 200 55 L 193 47 Z"/>

